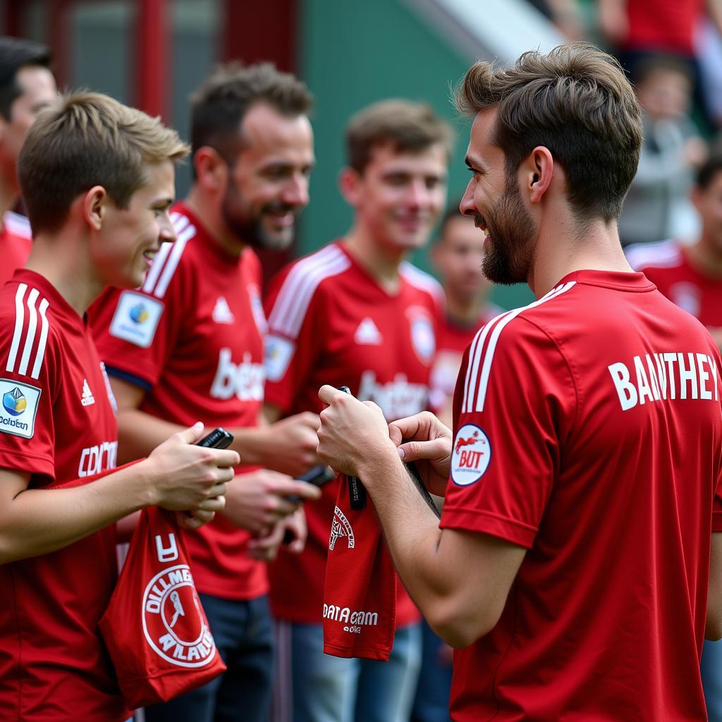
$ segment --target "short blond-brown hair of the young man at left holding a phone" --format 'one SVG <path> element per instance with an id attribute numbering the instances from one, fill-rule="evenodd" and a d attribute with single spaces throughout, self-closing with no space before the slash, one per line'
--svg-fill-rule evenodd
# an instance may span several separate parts
<path id="1" fill-rule="evenodd" d="M 18 158 L 32 232 L 58 230 L 72 202 L 93 186 L 103 186 L 118 208 L 127 208 L 147 183 L 146 165 L 180 160 L 188 151 L 160 118 L 108 95 L 59 97 L 40 112 Z"/>

